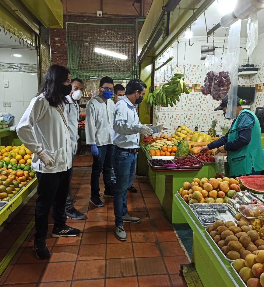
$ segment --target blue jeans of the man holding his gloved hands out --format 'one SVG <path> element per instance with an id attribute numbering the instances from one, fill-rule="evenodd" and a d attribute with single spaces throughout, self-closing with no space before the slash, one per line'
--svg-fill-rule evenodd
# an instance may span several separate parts
<path id="1" fill-rule="evenodd" d="M 122 216 L 127 214 L 127 188 L 131 186 L 135 176 L 136 159 L 137 153 L 114 149 L 113 165 L 116 176 L 116 184 L 114 186 L 114 223 L 116 226 L 123 225 Z"/>

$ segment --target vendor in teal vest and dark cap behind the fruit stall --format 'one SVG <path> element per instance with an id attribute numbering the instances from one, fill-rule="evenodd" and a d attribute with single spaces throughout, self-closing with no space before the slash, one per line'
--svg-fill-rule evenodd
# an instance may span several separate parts
<path id="1" fill-rule="evenodd" d="M 261 129 L 258 118 L 247 109 L 242 109 L 237 99 L 236 119 L 230 130 L 219 140 L 202 147 L 200 152 L 218 148 L 216 154 L 227 153 L 229 175 L 260 175 L 264 170 L 264 152 L 261 144 Z M 227 110 L 228 95 L 215 111 Z"/>

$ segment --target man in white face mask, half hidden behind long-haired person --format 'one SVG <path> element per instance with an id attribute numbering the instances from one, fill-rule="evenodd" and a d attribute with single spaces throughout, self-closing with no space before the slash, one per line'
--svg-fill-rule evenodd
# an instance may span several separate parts
<path id="1" fill-rule="evenodd" d="M 72 91 L 69 95 L 66 96 L 68 103 L 66 104 L 65 111 L 68 117 L 68 126 L 71 137 L 71 145 L 72 145 L 72 162 L 74 160 L 74 155 L 77 152 L 77 141 L 79 139 L 78 135 L 78 120 L 79 120 L 79 105 L 77 101 L 81 99 L 83 95 L 83 81 L 80 79 L 72 79 Z M 72 179 L 72 168 L 70 173 L 70 181 Z M 86 215 L 84 213 L 79 212 L 73 206 L 73 200 L 71 196 L 71 185 L 69 186 L 69 193 L 66 200 L 65 205 L 65 215 L 68 218 L 74 220 L 84 220 Z"/>

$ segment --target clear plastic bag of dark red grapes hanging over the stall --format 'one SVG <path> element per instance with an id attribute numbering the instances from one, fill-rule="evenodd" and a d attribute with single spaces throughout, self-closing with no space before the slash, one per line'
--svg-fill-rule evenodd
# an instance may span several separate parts
<path id="1" fill-rule="evenodd" d="M 232 63 L 226 60 L 226 55 L 224 58 L 207 55 L 204 63 L 206 76 L 201 87 L 203 95 L 212 95 L 217 101 L 224 99 L 231 85 L 229 73 L 231 65 Z"/>

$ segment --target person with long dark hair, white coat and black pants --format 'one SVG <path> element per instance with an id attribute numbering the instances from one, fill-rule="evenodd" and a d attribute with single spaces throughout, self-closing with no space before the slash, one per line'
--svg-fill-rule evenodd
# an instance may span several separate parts
<path id="1" fill-rule="evenodd" d="M 77 236 L 79 229 L 65 224 L 65 202 L 69 191 L 72 149 L 65 96 L 72 90 L 69 70 L 52 65 L 44 76 L 38 95 L 30 102 L 16 128 L 19 139 L 33 152 L 32 167 L 38 187 L 35 210 L 36 256 L 50 257 L 46 245 L 48 214 L 52 207 L 54 227 L 52 237 Z"/>

